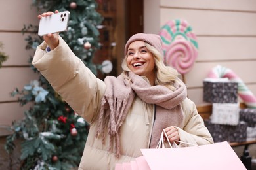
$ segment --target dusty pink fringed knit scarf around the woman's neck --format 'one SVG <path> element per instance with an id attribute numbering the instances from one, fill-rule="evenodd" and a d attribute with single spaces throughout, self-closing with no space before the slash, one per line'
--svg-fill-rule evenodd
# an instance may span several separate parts
<path id="1" fill-rule="evenodd" d="M 102 136 L 102 143 L 105 142 L 104 129 L 108 129 L 110 135 L 110 148 L 114 144 L 114 154 L 120 156 L 120 127 L 125 120 L 127 113 L 133 103 L 135 95 L 142 101 L 156 105 L 156 117 L 152 129 L 150 148 L 156 148 L 161 132 L 169 126 L 181 127 L 184 120 L 184 113 L 181 102 L 186 98 L 186 86 L 175 84 L 176 90 L 170 90 L 165 86 L 150 86 L 141 76 L 127 73 L 127 78 L 121 74 L 117 78 L 107 76 L 104 80 L 106 91 L 101 101 L 101 110 L 98 120 L 96 137 Z"/>

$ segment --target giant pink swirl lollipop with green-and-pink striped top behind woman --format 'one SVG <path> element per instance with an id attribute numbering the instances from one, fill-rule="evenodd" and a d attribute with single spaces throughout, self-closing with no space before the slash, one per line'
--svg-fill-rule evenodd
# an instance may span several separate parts
<path id="1" fill-rule="evenodd" d="M 164 61 L 182 75 L 188 73 L 198 56 L 196 35 L 186 20 L 171 20 L 161 27 Z"/>

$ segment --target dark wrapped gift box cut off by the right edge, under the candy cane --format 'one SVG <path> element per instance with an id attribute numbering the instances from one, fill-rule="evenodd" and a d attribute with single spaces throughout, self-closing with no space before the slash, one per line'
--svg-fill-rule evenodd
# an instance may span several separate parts
<path id="1" fill-rule="evenodd" d="M 249 127 L 256 126 L 256 109 L 246 108 L 239 112 L 241 121 L 247 122 Z"/>

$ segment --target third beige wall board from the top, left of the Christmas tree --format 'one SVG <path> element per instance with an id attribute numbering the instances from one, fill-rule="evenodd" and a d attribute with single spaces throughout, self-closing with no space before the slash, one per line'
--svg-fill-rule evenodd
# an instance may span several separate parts
<path id="1" fill-rule="evenodd" d="M 24 85 L 31 80 L 38 80 L 38 74 L 33 73 L 30 67 L 10 67 L 0 69 L 0 103 L 3 101 L 16 101 L 17 97 L 11 97 L 10 93 L 18 88 L 22 90 Z"/>

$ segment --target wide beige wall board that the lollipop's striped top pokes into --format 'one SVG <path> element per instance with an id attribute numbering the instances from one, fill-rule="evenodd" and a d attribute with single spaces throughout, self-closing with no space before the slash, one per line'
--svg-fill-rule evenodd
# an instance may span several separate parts
<path id="1" fill-rule="evenodd" d="M 160 27 L 169 20 L 185 19 L 197 35 L 256 35 L 256 12 L 161 9 Z"/>

